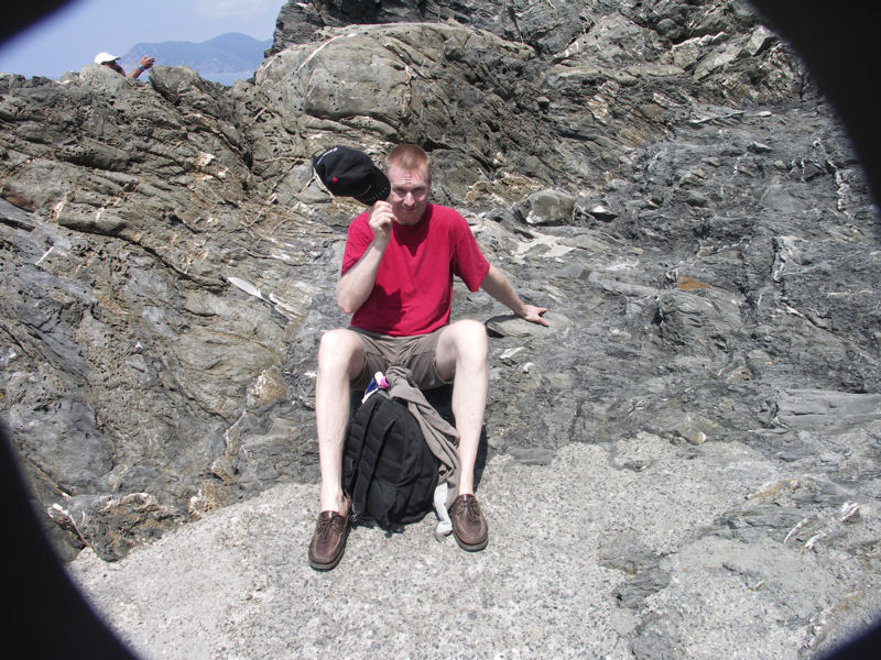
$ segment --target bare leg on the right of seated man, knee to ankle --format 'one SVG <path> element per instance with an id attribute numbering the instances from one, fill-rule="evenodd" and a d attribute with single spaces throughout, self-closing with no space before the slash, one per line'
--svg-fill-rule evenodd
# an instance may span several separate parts
<path id="1" fill-rule="evenodd" d="M 459 432 L 459 495 L 475 492 L 475 465 L 489 389 L 487 331 L 478 321 L 447 326 L 437 340 L 435 364 L 445 381 L 453 377 L 453 415 Z"/>

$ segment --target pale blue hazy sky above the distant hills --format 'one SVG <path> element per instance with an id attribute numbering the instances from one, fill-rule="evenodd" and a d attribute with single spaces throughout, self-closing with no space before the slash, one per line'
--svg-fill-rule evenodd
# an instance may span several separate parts
<path id="1" fill-rule="evenodd" d="M 28 0 L 24 0 L 25 2 Z M 0 45 L 0 72 L 57 78 L 140 42 L 204 42 L 227 32 L 272 38 L 285 0 L 72 0 Z M 162 64 L 162 63 L 157 63 Z"/>

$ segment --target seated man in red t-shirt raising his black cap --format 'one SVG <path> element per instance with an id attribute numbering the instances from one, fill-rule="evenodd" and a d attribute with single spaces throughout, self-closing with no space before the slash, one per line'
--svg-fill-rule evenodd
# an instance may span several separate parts
<path id="1" fill-rule="evenodd" d="M 365 162 L 366 161 L 366 162 Z M 474 495 L 474 473 L 489 387 L 488 341 L 475 320 L 449 322 L 453 275 L 483 288 L 523 319 L 547 326 L 546 308 L 524 304 L 491 266 L 466 220 L 428 202 L 428 155 L 403 144 L 385 160 L 387 175 L 355 150 L 328 150 L 316 163 L 323 180 L 340 182 L 352 168 L 372 169 L 366 188 L 349 194 L 372 208 L 349 227 L 336 287 L 348 329 L 322 337 L 315 387 L 322 474 L 322 513 L 309 543 L 309 564 L 329 570 L 346 546 L 351 503 L 341 487 L 342 447 L 350 383 L 365 387 L 378 371 L 410 369 L 422 389 L 453 382 L 460 477 L 452 508 L 453 531 L 465 550 L 487 546 L 488 527 Z M 331 188 L 333 190 L 333 188 Z M 388 200 L 387 200 L 388 196 Z"/>

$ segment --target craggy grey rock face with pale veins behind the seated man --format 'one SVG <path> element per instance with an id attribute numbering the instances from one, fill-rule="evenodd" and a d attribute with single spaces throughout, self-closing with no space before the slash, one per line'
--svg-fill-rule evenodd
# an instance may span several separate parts
<path id="1" fill-rule="evenodd" d="M 403 141 L 551 308 L 531 327 L 457 285 L 491 336 L 490 455 L 741 442 L 813 485 L 719 528 L 877 563 L 868 522 L 817 541 L 881 495 L 877 210 L 798 59 L 726 0 L 289 2 L 253 84 L 0 78 L 0 402 L 59 548 L 112 560 L 317 477 L 360 208 L 311 157 Z"/>

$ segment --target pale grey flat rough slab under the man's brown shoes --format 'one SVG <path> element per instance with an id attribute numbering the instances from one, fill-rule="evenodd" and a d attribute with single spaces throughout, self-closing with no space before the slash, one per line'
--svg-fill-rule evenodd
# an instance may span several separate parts
<path id="1" fill-rule="evenodd" d="M 317 487 L 285 484 L 69 570 L 145 659 L 795 660 L 881 606 L 877 561 L 719 525 L 790 483 L 785 470 L 737 442 L 640 433 L 563 447 L 548 465 L 489 461 L 479 553 L 437 542 L 428 516 L 392 537 L 357 528 L 339 566 L 315 572 Z M 849 534 L 878 539 L 874 503 L 861 507 Z"/>

